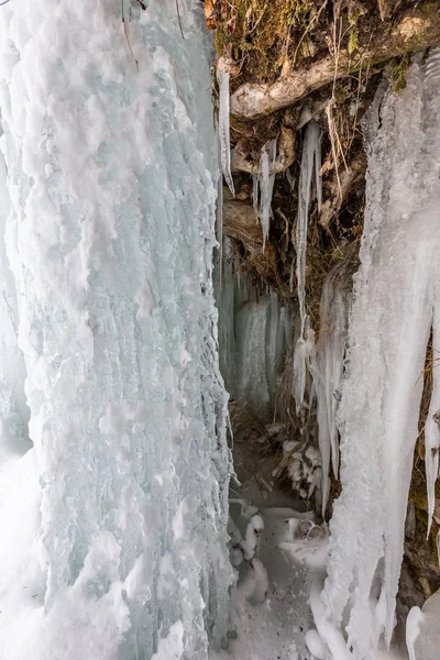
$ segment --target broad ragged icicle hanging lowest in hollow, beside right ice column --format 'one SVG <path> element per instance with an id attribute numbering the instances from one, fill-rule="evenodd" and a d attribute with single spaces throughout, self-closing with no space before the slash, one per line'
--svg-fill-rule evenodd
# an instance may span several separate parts
<path id="1" fill-rule="evenodd" d="M 322 515 L 329 497 L 330 458 L 334 477 L 339 471 L 339 437 L 337 413 L 341 399 L 341 382 L 345 353 L 350 287 L 346 287 L 346 264 L 332 268 L 322 288 L 320 305 L 320 330 L 310 370 L 317 393 L 318 438 L 322 462 Z"/>

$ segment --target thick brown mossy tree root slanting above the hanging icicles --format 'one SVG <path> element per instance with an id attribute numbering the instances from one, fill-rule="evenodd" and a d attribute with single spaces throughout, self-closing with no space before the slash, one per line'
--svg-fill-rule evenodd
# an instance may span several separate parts
<path id="1" fill-rule="evenodd" d="M 384 23 L 372 38 L 367 38 L 354 54 L 348 50 L 339 52 L 338 70 L 334 58 L 327 56 L 307 67 L 292 70 L 273 85 L 245 82 L 231 97 L 231 113 L 243 119 L 270 114 L 333 82 L 336 77 L 343 78 L 366 65 L 437 44 L 440 41 L 440 8 L 430 3 L 406 11 L 392 30 Z"/>

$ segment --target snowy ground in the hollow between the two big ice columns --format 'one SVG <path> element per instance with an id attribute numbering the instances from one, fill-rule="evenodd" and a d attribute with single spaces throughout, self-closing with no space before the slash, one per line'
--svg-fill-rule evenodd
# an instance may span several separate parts
<path id="1" fill-rule="evenodd" d="M 243 451 L 250 450 L 243 447 Z M 254 463 L 245 459 L 245 464 Z M 311 574 L 304 559 L 307 553 L 299 557 L 298 548 L 309 543 L 309 556 L 315 554 L 321 540 L 307 541 L 302 538 L 304 529 L 298 529 L 294 538 L 289 525 L 293 520 L 300 524 L 306 520 L 308 528 L 314 514 L 295 510 L 295 502 L 276 487 L 260 490 L 252 473 L 249 479 L 241 473 L 240 479 L 240 497 L 231 498 L 234 526 L 245 530 L 256 507 L 264 529 L 257 556 L 238 566 L 238 585 L 232 592 L 234 632 L 228 649 L 211 652 L 209 659 L 314 660 L 306 646 L 306 634 L 311 626 L 308 605 Z"/>

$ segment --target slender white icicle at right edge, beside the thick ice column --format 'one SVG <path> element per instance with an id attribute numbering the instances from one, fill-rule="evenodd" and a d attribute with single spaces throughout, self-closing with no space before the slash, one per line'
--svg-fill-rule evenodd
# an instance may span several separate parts
<path id="1" fill-rule="evenodd" d="M 432 324 L 432 359 L 440 354 L 440 308 L 437 304 Z M 425 425 L 425 466 L 428 491 L 428 538 L 431 531 L 433 508 L 436 505 L 436 481 L 439 474 L 440 447 L 440 373 L 433 362 L 432 394 Z"/>

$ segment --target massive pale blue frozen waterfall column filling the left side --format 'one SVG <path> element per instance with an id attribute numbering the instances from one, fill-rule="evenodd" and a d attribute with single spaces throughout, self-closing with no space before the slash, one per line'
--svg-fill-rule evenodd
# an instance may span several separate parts
<path id="1" fill-rule="evenodd" d="M 185 40 L 175 0 L 143 6 L 2 8 L 8 251 L 42 486 L 38 587 L 20 605 L 24 579 L 2 592 L 15 618 L 29 609 L 24 631 L 3 624 L 8 660 L 197 660 L 227 632 L 210 51 L 196 1 L 179 0 Z"/>

